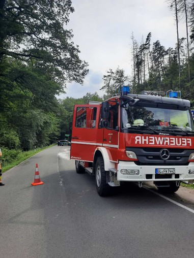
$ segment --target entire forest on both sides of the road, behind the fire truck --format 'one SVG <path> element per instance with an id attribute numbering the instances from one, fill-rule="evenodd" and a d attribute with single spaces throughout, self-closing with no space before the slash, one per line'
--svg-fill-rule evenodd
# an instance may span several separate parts
<path id="1" fill-rule="evenodd" d="M 137 42 L 131 33 L 132 74 L 107 68 L 101 90 L 80 99 L 67 97 L 66 83 L 82 84 L 88 63 L 79 58 L 66 29 L 71 0 L 0 0 L 0 147 L 14 159 L 18 153 L 44 147 L 71 135 L 74 104 L 103 101 L 129 85 L 142 90 L 181 90 L 182 98 L 194 100 L 194 3 L 167 1 L 176 20 L 177 44 L 165 49 L 151 44 L 151 32 Z M 184 20 L 186 38 L 179 37 Z M 91 89 L 92 91 L 92 89 Z M 8 154 L 9 153 L 9 154 Z"/>

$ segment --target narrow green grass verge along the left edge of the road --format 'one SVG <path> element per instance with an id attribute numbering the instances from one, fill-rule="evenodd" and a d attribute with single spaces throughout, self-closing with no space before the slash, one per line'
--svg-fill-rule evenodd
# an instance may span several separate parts
<path id="1" fill-rule="evenodd" d="M 46 147 L 43 147 L 43 148 L 37 148 L 36 151 L 29 150 L 29 151 L 20 152 L 15 160 L 6 164 L 5 166 L 2 164 L 2 172 L 4 173 L 4 172 L 8 171 L 9 169 L 19 165 L 21 162 L 23 162 L 27 158 L 32 157 L 33 155 L 37 154 L 38 152 L 40 152 L 44 149 L 48 149 L 48 148 L 50 148 L 54 145 L 56 145 L 56 144 L 52 144 L 52 145 L 49 145 L 49 146 L 46 146 Z"/>

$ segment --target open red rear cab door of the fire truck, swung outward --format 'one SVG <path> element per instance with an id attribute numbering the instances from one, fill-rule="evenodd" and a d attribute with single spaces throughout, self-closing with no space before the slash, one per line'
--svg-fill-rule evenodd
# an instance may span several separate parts
<path id="1" fill-rule="evenodd" d="M 71 159 L 93 162 L 94 151 L 102 146 L 99 128 L 100 105 L 75 105 L 73 112 Z"/>

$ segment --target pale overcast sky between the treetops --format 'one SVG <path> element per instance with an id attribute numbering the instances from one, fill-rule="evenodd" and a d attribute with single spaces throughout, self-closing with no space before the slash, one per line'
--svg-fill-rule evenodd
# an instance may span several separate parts
<path id="1" fill-rule="evenodd" d="M 151 44 L 160 41 L 166 49 L 175 48 L 176 22 L 165 0 L 72 0 L 75 12 L 67 28 L 73 30 L 73 42 L 79 46 L 80 59 L 89 63 L 84 85 L 67 84 L 60 96 L 82 98 L 87 92 L 98 92 L 106 71 L 118 67 L 132 75 L 131 35 L 138 43 L 151 32 Z M 179 24 L 179 38 L 185 37 L 185 25 Z"/>

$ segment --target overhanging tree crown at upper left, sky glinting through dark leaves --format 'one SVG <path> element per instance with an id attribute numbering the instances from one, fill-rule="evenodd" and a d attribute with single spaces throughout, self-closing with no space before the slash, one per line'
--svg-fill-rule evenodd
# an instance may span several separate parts
<path id="1" fill-rule="evenodd" d="M 64 28 L 74 11 L 71 0 L 6 0 L 0 5 L 0 62 L 6 56 L 34 60 L 61 71 L 66 80 L 82 83 L 87 63 L 78 57 L 72 31 Z M 1 76 L 4 76 L 4 70 Z"/>

